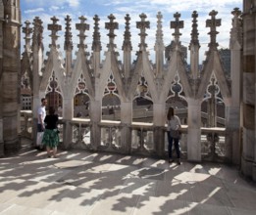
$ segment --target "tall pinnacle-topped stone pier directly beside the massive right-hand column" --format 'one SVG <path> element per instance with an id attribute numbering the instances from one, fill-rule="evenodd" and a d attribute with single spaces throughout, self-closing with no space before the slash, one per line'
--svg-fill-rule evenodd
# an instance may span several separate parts
<path id="1" fill-rule="evenodd" d="M 226 104 L 226 152 L 231 163 L 240 164 L 241 157 L 241 48 L 242 48 L 242 27 L 241 11 L 235 8 L 233 15 L 232 28 L 230 31 L 230 77 L 231 77 L 231 101 Z"/>

